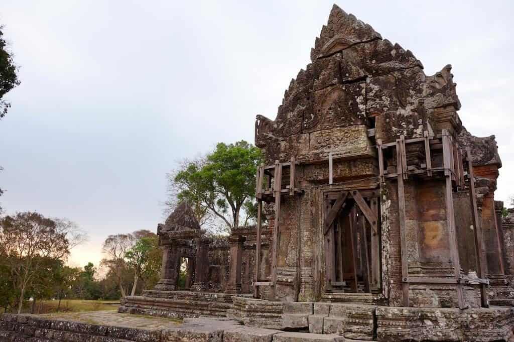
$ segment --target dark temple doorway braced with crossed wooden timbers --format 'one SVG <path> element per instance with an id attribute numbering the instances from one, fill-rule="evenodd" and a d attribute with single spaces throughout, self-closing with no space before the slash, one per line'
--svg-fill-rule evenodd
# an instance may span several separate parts
<path id="1" fill-rule="evenodd" d="M 325 192 L 326 290 L 380 291 L 378 190 Z"/>

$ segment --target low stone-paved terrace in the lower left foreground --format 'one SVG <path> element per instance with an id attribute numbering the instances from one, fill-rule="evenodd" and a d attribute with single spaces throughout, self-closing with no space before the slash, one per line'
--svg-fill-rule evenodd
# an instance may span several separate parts
<path id="1" fill-rule="evenodd" d="M 248 328 L 228 319 L 142 317 L 112 311 L 0 316 L 0 342 L 336 342 L 335 334 Z"/>

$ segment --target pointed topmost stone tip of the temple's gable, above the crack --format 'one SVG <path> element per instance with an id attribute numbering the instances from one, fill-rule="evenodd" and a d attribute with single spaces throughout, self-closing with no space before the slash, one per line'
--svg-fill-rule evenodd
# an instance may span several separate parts
<path id="1" fill-rule="evenodd" d="M 326 56 L 350 45 L 380 38 L 380 33 L 375 32 L 373 27 L 361 22 L 355 15 L 347 14 L 334 4 L 327 25 L 323 26 L 320 37 L 316 38 L 310 59 L 314 62 L 322 55 Z"/>

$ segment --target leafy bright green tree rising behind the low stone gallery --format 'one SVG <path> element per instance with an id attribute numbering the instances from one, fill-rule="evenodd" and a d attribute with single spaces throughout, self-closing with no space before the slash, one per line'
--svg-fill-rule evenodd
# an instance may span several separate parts
<path id="1" fill-rule="evenodd" d="M 167 203 L 173 208 L 187 200 L 195 212 L 212 213 L 227 229 L 239 226 L 243 214 L 246 225 L 253 213 L 249 209 L 260 160 L 260 149 L 244 140 L 229 145 L 220 142 L 204 159 L 182 164 L 168 175 L 171 198 Z"/>

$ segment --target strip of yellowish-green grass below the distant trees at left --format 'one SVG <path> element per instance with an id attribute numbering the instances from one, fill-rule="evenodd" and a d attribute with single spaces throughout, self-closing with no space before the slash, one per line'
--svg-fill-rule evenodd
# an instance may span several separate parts
<path id="1" fill-rule="evenodd" d="M 36 302 L 36 314 L 49 314 L 56 313 L 59 305 L 58 300 L 45 300 L 42 303 Z M 104 310 L 118 310 L 120 306 L 119 300 L 82 300 L 82 299 L 63 299 L 59 312 L 84 312 L 84 311 L 104 311 Z M 24 305 L 23 313 L 30 313 L 32 309 L 32 302 L 27 302 Z M 0 309 L 0 313 L 3 309 Z"/>

